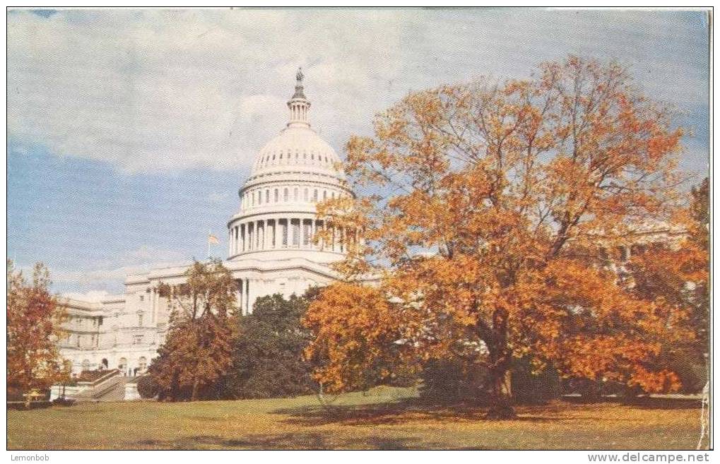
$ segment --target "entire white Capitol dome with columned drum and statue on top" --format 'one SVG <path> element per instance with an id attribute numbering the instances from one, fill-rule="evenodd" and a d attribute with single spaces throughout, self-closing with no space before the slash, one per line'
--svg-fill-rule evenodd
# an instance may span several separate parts
<path id="1" fill-rule="evenodd" d="M 240 211 L 228 222 L 229 260 L 331 263 L 347 251 L 340 237 L 351 231 L 330 226 L 331 239 L 317 237 L 327 227 L 317 204 L 354 194 L 335 150 L 310 128 L 310 101 L 300 70 L 296 78 L 287 127 L 256 155 L 251 176 L 238 192 Z"/>

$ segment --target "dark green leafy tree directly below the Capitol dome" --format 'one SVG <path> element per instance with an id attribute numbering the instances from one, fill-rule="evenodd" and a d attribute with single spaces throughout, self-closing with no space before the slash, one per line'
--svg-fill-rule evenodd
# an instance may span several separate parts
<path id="1" fill-rule="evenodd" d="M 264 296 L 255 302 L 252 314 L 240 317 L 233 368 L 218 384 L 218 397 L 272 398 L 315 391 L 312 366 L 302 355 L 310 334 L 300 319 L 317 293 L 310 288 L 289 299 Z"/>

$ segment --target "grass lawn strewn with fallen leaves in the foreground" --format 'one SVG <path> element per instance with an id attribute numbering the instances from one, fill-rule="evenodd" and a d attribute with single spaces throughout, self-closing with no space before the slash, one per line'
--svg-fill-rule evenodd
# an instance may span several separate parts
<path id="1" fill-rule="evenodd" d="M 480 408 L 423 406 L 413 390 L 194 403 L 99 403 L 7 411 L 17 449 L 695 449 L 699 402 L 518 406 L 514 421 Z"/>

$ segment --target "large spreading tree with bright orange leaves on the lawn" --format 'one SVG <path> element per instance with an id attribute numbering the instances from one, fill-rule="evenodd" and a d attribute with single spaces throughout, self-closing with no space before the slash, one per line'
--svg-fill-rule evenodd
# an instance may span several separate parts
<path id="1" fill-rule="evenodd" d="M 316 377 L 361 385 L 390 345 L 409 363 L 462 360 L 490 379 L 490 417 L 513 415 L 513 358 L 678 388 L 652 358 L 662 334 L 687 332 L 687 309 L 629 291 L 603 255 L 639 224 L 677 220 L 682 135 L 621 65 L 574 56 L 523 80 L 415 92 L 377 115 L 374 137 L 347 145 L 361 194 L 318 206 L 325 235 L 355 233 L 337 266 L 346 283 L 307 314 L 308 351 L 327 358 Z M 359 283 L 367 275 L 377 288 Z"/>

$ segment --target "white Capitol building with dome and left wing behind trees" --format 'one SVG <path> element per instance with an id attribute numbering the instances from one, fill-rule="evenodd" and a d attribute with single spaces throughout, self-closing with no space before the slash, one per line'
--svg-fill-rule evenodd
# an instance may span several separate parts
<path id="1" fill-rule="evenodd" d="M 289 122 L 257 153 L 252 172 L 239 191 L 239 209 L 228 220 L 228 258 L 237 306 L 252 312 L 258 297 L 302 294 L 336 278 L 329 264 L 343 258 L 339 237 L 313 241 L 324 229 L 319 201 L 352 196 L 340 158 L 310 127 L 310 101 L 297 72 L 287 102 Z M 187 265 L 156 268 L 127 276 L 125 293 L 99 302 L 66 299 L 68 335 L 60 342 L 73 374 L 82 370 L 119 369 L 125 376 L 145 372 L 168 330 L 171 306 L 158 294 L 160 283 L 183 283 Z"/>

